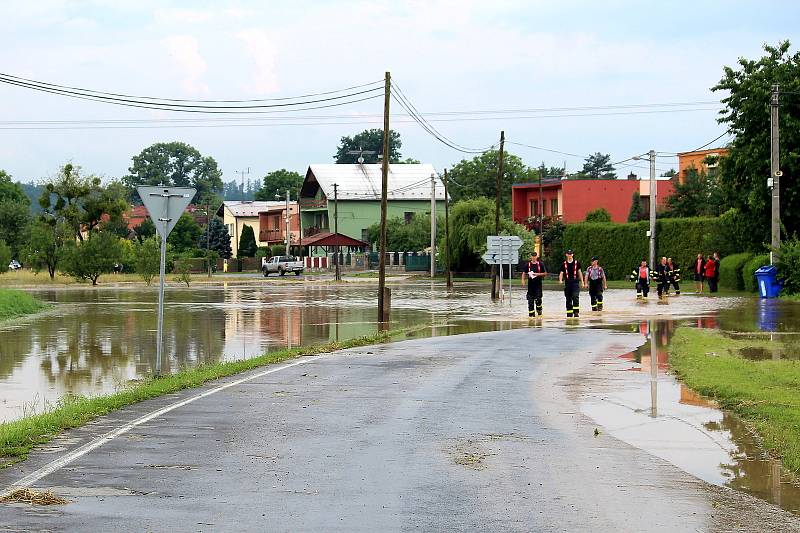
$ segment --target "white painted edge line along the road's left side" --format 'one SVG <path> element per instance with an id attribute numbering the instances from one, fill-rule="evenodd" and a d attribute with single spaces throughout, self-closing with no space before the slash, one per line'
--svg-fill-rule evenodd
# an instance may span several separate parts
<path id="1" fill-rule="evenodd" d="M 49 476 L 50 474 L 52 474 L 56 470 L 59 470 L 59 469 L 63 468 L 64 466 L 68 465 L 69 463 L 71 463 L 75 459 L 78 459 L 79 457 L 82 457 L 82 456 L 86 455 L 87 453 L 91 452 L 92 450 L 95 450 L 95 449 L 99 448 L 103 444 L 112 441 L 113 439 L 119 437 L 120 435 L 124 435 L 125 433 L 127 433 L 130 430 L 132 430 L 136 426 L 140 426 L 142 424 L 145 424 L 145 423 L 149 422 L 150 420 L 153 420 L 154 418 L 158 418 L 159 416 L 161 416 L 163 414 L 169 413 L 170 411 L 172 411 L 174 409 L 177 409 L 178 407 L 183 407 L 184 405 L 187 405 L 187 404 L 190 404 L 190 403 L 192 403 L 192 402 L 194 402 L 196 400 L 200 400 L 202 398 L 205 398 L 206 396 L 211 396 L 212 394 L 216 394 L 219 391 L 225 390 L 227 388 L 235 387 L 236 385 L 241 385 L 242 383 L 245 383 L 247 381 L 252 381 L 254 379 L 258 379 L 260 377 L 266 376 L 268 374 L 273 374 L 275 372 L 280 372 L 281 370 L 286 370 L 287 368 L 291 368 L 293 366 L 302 365 L 302 364 L 308 363 L 310 361 L 314 361 L 314 360 L 316 360 L 318 358 L 319 358 L 319 356 L 318 357 L 313 357 L 313 358 L 299 359 L 299 360 L 297 360 L 297 361 L 295 361 L 293 363 L 282 365 L 282 366 L 280 366 L 278 368 L 271 368 L 269 370 L 265 370 L 263 372 L 259 372 L 258 374 L 254 374 L 254 375 L 246 377 L 246 378 L 237 379 L 236 381 L 232 381 L 230 383 L 226 383 L 224 385 L 220 385 L 219 387 L 214 387 L 213 389 L 210 389 L 210 390 L 207 390 L 207 391 L 205 391 L 203 393 L 200 393 L 200 394 L 197 394 L 195 396 L 192 396 L 191 398 L 187 398 L 185 400 L 181 400 L 180 402 L 176 402 L 176 403 L 173 403 L 173 404 L 168 405 L 166 407 L 162 407 L 161 409 L 158 409 L 157 411 L 153 411 L 152 413 L 149 413 L 149 414 L 144 415 L 144 416 L 142 416 L 140 418 L 137 418 L 136 420 L 134 420 L 132 422 L 128 422 L 127 424 L 125 424 L 123 426 L 120 426 L 117 429 L 114 429 L 112 431 L 109 431 L 108 433 L 98 437 L 97 439 L 95 439 L 95 440 L 93 440 L 91 442 L 87 442 L 86 444 L 84 444 L 82 446 L 79 446 L 78 448 L 76 448 L 72 452 L 68 453 L 67 455 L 64 455 L 63 457 L 61 457 L 59 459 L 56 459 L 55 461 L 52 461 L 52 462 L 46 464 L 45 466 L 41 467 L 40 469 L 31 472 L 30 474 L 28 474 L 27 476 L 23 477 L 22 479 L 20 479 L 19 481 L 17 481 L 13 485 L 11 485 L 10 487 L 8 487 L 5 490 L 3 490 L 0 494 L 2 494 L 2 496 L 6 496 L 6 495 L 10 494 L 11 492 L 13 492 L 13 491 L 15 491 L 17 489 L 30 487 L 33 483 L 36 483 L 37 481 L 39 481 L 43 477 Z"/>

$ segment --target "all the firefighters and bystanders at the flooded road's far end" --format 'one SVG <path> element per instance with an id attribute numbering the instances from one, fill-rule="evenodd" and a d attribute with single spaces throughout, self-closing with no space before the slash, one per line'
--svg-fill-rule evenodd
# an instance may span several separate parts
<path id="1" fill-rule="evenodd" d="M 589 289 L 592 311 L 603 310 L 603 291 L 608 289 L 608 281 L 603 267 L 598 263 L 599 258 L 592 257 L 592 264 L 584 272 L 580 262 L 575 259 L 574 252 L 566 251 L 564 262 L 559 269 L 558 281 L 564 285 L 567 318 L 580 316 L 581 288 Z M 719 254 L 715 252 L 708 256 L 708 259 L 704 259 L 703 254 L 697 254 L 693 273 L 697 292 L 703 292 L 703 284 L 706 281 L 709 290 L 717 292 Z M 522 285 L 528 287 L 528 317 L 530 318 L 535 318 L 537 315 L 541 317 L 543 314 L 542 282 L 545 277 L 547 277 L 547 268 L 544 262 L 535 251 L 531 252 L 530 260 L 522 268 L 521 279 Z M 647 301 L 651 283 L 656 285 L 659 299 L 669 296 L 672 289 L 675 290 L 676 295 L 681 293 L 681 269 L 671 257 L 662 257 L 653 269 L 647 265 L 647 259 L 642 259 L 642 262 L 631 272 L 630 280 L 635 282 L 636 298 L 640 301 Z"/>

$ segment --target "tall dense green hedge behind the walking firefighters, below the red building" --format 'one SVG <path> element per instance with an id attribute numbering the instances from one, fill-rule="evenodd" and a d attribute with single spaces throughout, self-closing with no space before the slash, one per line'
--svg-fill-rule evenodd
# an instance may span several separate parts
<path id="1" fill-rule="evenodd" d="M 672 257 L 688 279 L 687 270 L 698 253 L 709 255 L 711 242 L 719 242 L 724 221 L 716 217 L 667 218 L 656 222 L 656 257 Z M 608 279 L 627 279 L 642 258 L 649 256 L 647 221 L 630 224 L 569 224 L 564 230 L 564 248 L 575 250 L 575 257 L 588 265 L 593 255 Z M 724 253 L 724 252 L 723 252 Z"/>

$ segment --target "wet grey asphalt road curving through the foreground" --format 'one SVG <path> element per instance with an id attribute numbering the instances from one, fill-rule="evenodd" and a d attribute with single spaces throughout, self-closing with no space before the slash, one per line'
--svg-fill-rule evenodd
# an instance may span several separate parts
<path id="1" fill-rule="evenodd" d="M 575 407 L 575 380 L 591 381 L 585 372 L 597 355 L 641 342 L 599 330 L 522 329 L 304 358 L 56 470 L 33 485 L 71 502 L 0 506 L 0 531 L 798 528 L 780 509 L 594 435 Z M 0 471 L 0 487 L 216 385 L 68 432 Z"/>

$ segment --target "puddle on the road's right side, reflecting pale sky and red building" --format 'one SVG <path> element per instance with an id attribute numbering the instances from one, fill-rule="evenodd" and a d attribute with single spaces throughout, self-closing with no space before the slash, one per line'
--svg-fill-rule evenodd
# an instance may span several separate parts
<path id="1" fill-rule="evenodd" d="M 724 320 L 724 319 L 723 319 Z M 800 485 L 780 460 L 760 447 L 748 427 L 668 373 L 669 343 L 678 323 L 654 321 L 652 337 L 639 349 L 595 362 L 608 387 L 591 390 L 581 404 L 615 438 L 660 457 L 709 483 L 731 487 L 800 514 Z M 724 321 L 702 318 L 698 327 L 725 329 Z M 649 322 L 631 326 L 650 337 Z M 771 359 L 773 351 L 751 354 Z"/>

